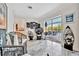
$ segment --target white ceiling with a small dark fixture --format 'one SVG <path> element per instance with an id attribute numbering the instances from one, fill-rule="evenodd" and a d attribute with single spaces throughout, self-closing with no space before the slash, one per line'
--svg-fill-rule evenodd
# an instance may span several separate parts
<path id="1" fill-rule="evenodd" d="M 39 18 L 49 11 L 55 9 L 59 3 L 7 3 L 8 8 L 12 9 L 14 13 L 22 17 Z M 32 6 L 29 9 L 28 6 Z"/>

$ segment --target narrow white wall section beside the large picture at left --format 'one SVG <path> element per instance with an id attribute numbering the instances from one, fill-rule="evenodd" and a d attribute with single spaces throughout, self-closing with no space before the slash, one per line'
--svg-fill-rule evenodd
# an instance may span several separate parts
<path id="1" fill-rule="evenodd" d="M 8 6 L 7 6 L 8 7 Z M 13 11 L 11 8 L 7 8 L 7 34 L 9 32 L 12 32 L 13 31 L 13 24 L 14 24 L 14 15 L 13 15 Z M 7 45 L 11 45 L 11 40 L 10 40 L 10 37 L 9 35 L 7 35 L 6 37 L 8 39 L 7 41 Z"/>

